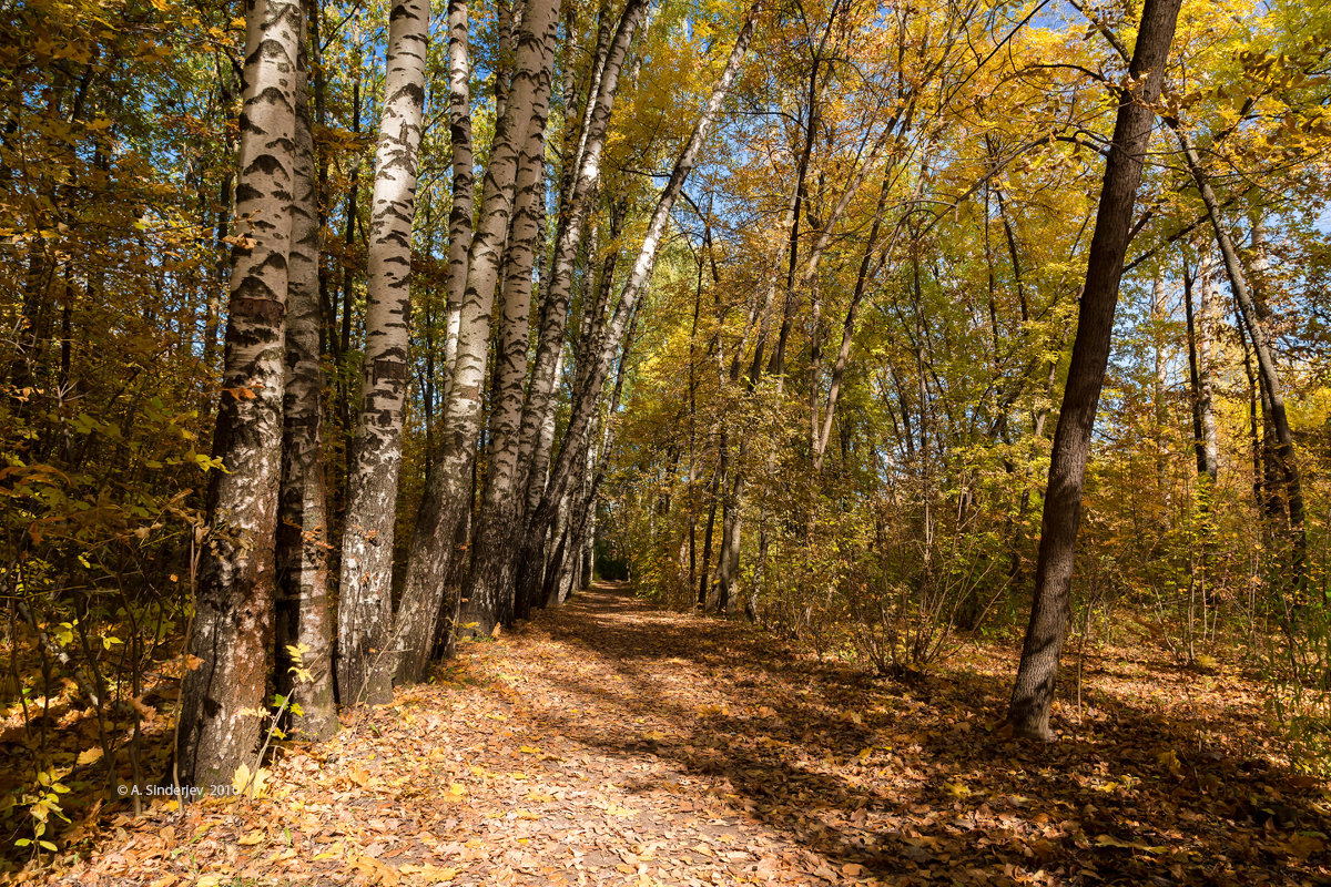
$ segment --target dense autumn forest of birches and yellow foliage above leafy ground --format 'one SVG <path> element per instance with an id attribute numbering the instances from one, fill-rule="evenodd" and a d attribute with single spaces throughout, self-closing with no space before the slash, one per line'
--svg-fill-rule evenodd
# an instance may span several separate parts
<path id="1" fill-rule="evenodd" d="M 1009 730 L 1131 638 L 1320 766 L 1328 65 L 1284 0 L 7 4 L 5 831 L 232 783 L 596 574 L 894 677 L 1046 589 Z"/>

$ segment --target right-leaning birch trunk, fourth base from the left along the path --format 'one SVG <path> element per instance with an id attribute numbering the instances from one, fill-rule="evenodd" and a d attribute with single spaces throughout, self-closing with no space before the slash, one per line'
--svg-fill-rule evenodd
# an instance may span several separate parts
<path id="1" fill-rule="evenodd" d="M 426 480 L 394 625 L 397 680 L 419 681 L 434 637 L 458 524 L 471 505 L 469 468 L 480 434 L 480 391 L 490 347 L 490 311 L 514 206 L 518 152 L 532 125 L 538 90 L 548 89 L 558 0 L 530 0 L 514 59 L 504 114 L 495 128 L 482 185 L 480 217 L 471 242 L 458 354 L 445 408 L 439 459 Z"/>

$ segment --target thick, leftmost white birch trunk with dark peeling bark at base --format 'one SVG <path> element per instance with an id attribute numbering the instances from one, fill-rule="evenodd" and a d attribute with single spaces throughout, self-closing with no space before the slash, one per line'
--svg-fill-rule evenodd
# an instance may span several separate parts
<path id="1" fill-rule="evenodd" d="M 213 453 L 228 471 L 208 491 L 209 539 L 198 567 L 190 653 L 176 747 L 177 777 L 230 785 L 253 753 L 268 678 L 274 536 L 282 460 L 282 347 L 291 235 L 301 4 L 245 8 L 240 120 L 222 396 Z"/>

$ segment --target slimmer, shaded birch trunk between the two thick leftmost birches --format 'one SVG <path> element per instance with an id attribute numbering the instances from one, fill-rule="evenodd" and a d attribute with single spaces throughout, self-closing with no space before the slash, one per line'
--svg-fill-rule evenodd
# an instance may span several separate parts
<path id="1" fill-rule="evenodd" d="M 313 741 L 337 733 L 329 612 L 327 493 L 323 475 L 323 374 L 319 363 L 319 218 L 314 140 L 302 72 L 295 100 L 291 249 L 286 287 L 286 392 L 277 528 L 277 686 L 301 714 L 293 731 Z M 293 681 L 289 645 L 309 681 Z"/>

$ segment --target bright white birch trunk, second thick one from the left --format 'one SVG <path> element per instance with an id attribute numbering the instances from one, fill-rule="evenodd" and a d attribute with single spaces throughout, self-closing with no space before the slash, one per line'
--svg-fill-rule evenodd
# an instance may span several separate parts
<path id="1" fill-rule="evenodd" d="M 402 464 L 411 222 L 429 35 L 429 0 L 393 1 L 370 206 L 361 407 L 342 537 L 338 692 L 346 706 L 393 698 L 393 524 Z"/>

